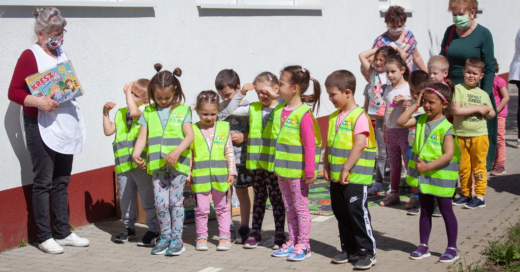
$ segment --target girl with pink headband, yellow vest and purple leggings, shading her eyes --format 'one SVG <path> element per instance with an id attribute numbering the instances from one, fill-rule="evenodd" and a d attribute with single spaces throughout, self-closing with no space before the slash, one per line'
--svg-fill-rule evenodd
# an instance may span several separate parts
<path id="1" fill-rule="evenodd" d="M 449 82 L 448 84 L 451 84 Z M 417 251 L 410 254 L 410 259 L 421 260 L 430 257 L 428 240 L 432 230 L 432 215 L 437 199 L 440 213 L 443 215 L 448 237 L 446 252 L 439 262 L 451 263 L 459 259 L 457 249 L 457 218 L 453 213 L 451 197 L 457 186 L 461 150 L 457 134 L 446 115 L 454 111 L 453 84 L 430 83 L 414 105 L 397 119 L 400 127 L 415 127 L 410 161 L 408 162 L 407 183 L 417 187 L 421 215 L 419 218 L 420 244 Z M 411 117 L 423 107 L 421 115 Z"/>

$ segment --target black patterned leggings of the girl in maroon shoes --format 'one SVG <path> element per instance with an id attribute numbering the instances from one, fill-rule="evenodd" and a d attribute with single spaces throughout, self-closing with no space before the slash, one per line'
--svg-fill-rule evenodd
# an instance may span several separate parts
<path id="1" fill-rule="evenodd" d="M 275 217 L 275 230 L 284 231 L 285 210 L 282 203 L 282 193 L 278 186 L 278 178 L 272 172 L 265 170 L 250 170 L 249 177 L 255 193 L 253 199 L 253 230 L 262 230 L 267 198 L 271 201 L 272 215 Z"/>

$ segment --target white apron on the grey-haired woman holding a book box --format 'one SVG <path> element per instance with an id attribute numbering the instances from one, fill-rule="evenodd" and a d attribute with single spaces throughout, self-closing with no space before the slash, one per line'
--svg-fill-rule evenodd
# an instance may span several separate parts
<path id="1" fill-rule="evenodd" d="M 57 49 L 58 59 L 49 59 L 51 57 L 37 44 L 32 45 L 29 49 L 36 58 L 38 72 L 68 60 L 67 54 L 60 48 Z M 20 118 L 22 119 L 22 114 L 20 114 Z M 23 122 L 20 122 L 22 132 L 25 134 Z M 77 154 L 83 150 L 86 137 L 85 124 L 80 107 L 75 100 L 61 103 L 53 112 L 38 109 L 38 127 L 43 142 L 50 149 L 62 154 Z M 23 136 L 25 139 L 25 135 Z"/>

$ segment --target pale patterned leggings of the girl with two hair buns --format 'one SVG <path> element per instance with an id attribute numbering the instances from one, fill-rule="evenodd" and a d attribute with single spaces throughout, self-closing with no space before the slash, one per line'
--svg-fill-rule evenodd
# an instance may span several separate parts
<path id="1" fill-rule="evenodd" d="M 179 174 L 173 167 L 166 166 L 153 171 L 152 182 L 155 212 L 157 212 L 159 219 L 161 235 L 170 238 L 182 238 L 184 224 L 183 191 L 186 176 Z"/>

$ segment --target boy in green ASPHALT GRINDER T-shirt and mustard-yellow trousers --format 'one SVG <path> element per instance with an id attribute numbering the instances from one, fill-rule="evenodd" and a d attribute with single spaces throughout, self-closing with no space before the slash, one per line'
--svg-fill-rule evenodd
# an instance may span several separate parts
<path id="1" fill-rule="evenodd" d="M 467 59 L 463 73 L 464 83 L 455 86 L 453 96 L 453 127 L 457 132 L 462 155 L 459 168 L 462 196 L 453 201 L 453 205 L 464 205 L 466 209 L 484 208 L 486 157 L 489 149 L 486 118 L 495 118 L 496 113 L 488 94 L 477 87 L 484 76 L 484 61 L 476 57 Z M 475 198 L 472 198 L 472 171 L 475 178 Z"/>

